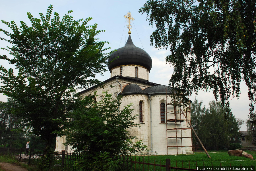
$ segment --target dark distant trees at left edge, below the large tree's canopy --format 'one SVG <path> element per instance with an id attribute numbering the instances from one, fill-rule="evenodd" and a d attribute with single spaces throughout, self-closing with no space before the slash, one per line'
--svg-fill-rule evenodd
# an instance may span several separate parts
<path id="1" fill-rule="evenodd" d="M 12 113 L 17 108 L 13 99 L 0 102 L 0 145 L 11 148 L 25 148 L 26 138 L 21 118 Z"/>

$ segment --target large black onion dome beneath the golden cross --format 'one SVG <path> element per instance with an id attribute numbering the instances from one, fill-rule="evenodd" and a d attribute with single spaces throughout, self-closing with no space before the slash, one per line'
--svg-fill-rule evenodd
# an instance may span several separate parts
<path id="1" fill-rule="evenodd" d="M 116 58 L 117 56 L 119 57 Z M 152 68 L 151 57 L 148 55 L 148 53 L 146 53 L 146 51 L 144 51 L 139 47 L 136 47 L 133 44 L 131 35 L 129 35 L 128 40 L 124 47 L 117 49 L 117 51 L 113 52 L 110 55 L 108 62 L 109 62 L 108 64 L 109 70 L 120 65 L 141 65 L 147 68 L 149 71 Z"/>

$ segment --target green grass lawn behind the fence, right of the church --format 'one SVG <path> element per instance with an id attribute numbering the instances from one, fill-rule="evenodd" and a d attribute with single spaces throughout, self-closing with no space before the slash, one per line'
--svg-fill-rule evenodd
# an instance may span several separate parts
<path id="1" fill-rule="evenodd" d="M 256 151 L 246 151 L 248 154 L 253 155 L 253 159 L 256 159 Z M 196 152 L 191 155 L 155 155 L 155 156 L 136 156 L 136 161 L 149 162 L 165 165 L 165 159 L 171 159 L 172 167 L 183 167 L 183 168 L 193 168 L 196 166 L 256 166 L 256 160 L 250 160 L 245 157 L 236 157 L 229 156 L 227 151 L 208 151 L 210 158 L 204 152 Z M 135 160 L 135 156 L 133 156 L 133 160 Z M 136 168 L 139 167 L 136 164 Z M 140 165 L 140 168 L 142 165 Z M 148 168 L 147 165 L 144 166 Z M 153 167 L 154 166 L 150 166 Z M 159 167 L 156 167 L 159 170 Z M 162 168 L 161 170 L 163 170 Z"/>

